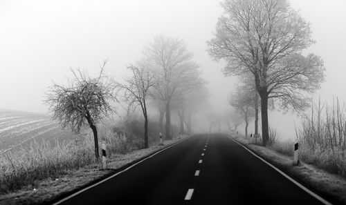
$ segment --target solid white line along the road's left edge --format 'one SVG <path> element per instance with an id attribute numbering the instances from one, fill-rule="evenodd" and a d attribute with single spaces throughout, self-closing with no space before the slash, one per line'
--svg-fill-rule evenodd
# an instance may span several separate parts
<path id="1" fill-rule="evenodd" d="M 100 182 L 97 182 L 95 184 L 92 184 L 91 186 L 88 186 L 86 188 L 83 188 L 82 190 L 76 192 L 76 193 L 73 193 L 71 195 L 69 195 L 68 197 L 65 197 L 64 199 L 60 199 L 59 201 L 55 202 L 54 204 L 52 205 L 57 205 L 57 204 L 61 204 L 62 202 L 65 202 L 66 200 L 69 200 L 71 199 L 72 197 L 76 196 L 76 195 L 79 195 L 80 193 L 83 193 L 84 191 L 86 190 L 89 190 L 90 188 L 93 188 L 94 186 L 98 186 L 98 184 L 102 184 L 103 182 L 106 182 L 107 180 L 113 178 L 113 177 L 116 177 L 117 175 L 120 175 L 121 173 L 125 172 L 126 170 L 129 170 L 130 168 L 136 166 L 137 164 L 140 164 L 141 162 L 145 161 L 146 159 L 150 159 L 152 157 L 154 157 L 155 155 L 157 155 L 158 153 L 161 153 L 163 152 L 164 150 L 167 150 L 168 148 L 171 148 L 172 146 L 176 146 L 177 144 L 180 144 L 181 142 L 183 141 L 186 141 L 188 139 L 190 139 L 191 137 L 188 137 L 186 139 L 183 139 L 181 141 L 178 141 L 174 144 L 171 144 L 170 146 L 167 146 L 166 148 L 163 148 L 162 150 L 158 150 L 156 153 L 152 154 L 152 155 L 149 155 L 148 157 L 145 157 L 144 159 L 140 160 L 139 162 L 136 162 L 135 164 L 132 164 L 131 166 L 125 168 L 125 170 L 121 170 L 120 172 L 118 173 L 115 173 L 114 175 L 111 175 L 110 177 L 107 177 L 106 179 L 102 179 Z M 193 192 L 193 191 L 192 191 Z"/>

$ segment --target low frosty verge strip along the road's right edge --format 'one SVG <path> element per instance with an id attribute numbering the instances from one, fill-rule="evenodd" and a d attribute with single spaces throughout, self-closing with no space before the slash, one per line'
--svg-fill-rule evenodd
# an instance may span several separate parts
<path id="1" fill-rule="evenodd" d="M 292 157 L 287 157 L 276 153 L 263 146 L 249 144 L 247 139 L 243 137 L 233 137 L 241 144 L 252 150 L 257 155 L 274 164 L 280 170 L 293 177 L 296 181 L 304 184 L 314 192 L 321 196 L 331 197 L 336 199 L 338 204 L 346 204 L 346 179 L 338 175 L 333 175 L 320 170 L 310 164 L 300 162 L 299 166 L 293 166 Z"/>

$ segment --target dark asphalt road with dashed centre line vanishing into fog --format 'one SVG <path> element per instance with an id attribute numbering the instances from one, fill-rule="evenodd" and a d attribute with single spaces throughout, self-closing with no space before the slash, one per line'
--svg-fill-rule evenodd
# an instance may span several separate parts
<path id="1" fill-rule="evenodd" d="M 321 202 L 226 135 L 212 134 L 194 135 L 62 204 Z"/>

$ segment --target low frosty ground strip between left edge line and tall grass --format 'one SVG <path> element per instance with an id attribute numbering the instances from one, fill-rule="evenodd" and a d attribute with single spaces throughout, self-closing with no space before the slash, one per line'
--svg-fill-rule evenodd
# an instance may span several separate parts
<path id="1" fill-rule="evenodd" d="M 46 204 L 52 202 L 62 195 L 77 191 L 89 184 L 100 181 L 104 177 L 115 173 L 117 169 L 127 166 L 138 160 L 155 153 L 171 144 L 187 138 L 188 135 L 181 136 L 181 139 L 165 141 L 165 146 L 151 146 L 147 149 L 134 150 L 125 155 L 112 155 L 108 159 L 107 170 L 102 170 L 99 164 L 93 164 L 66 172 L 58 179 L 47 179 L 37 182 L 37 186 L 26 186 L 15 193 L 8 193 L 0 196 L 0 205 L 8 204 Z"/>

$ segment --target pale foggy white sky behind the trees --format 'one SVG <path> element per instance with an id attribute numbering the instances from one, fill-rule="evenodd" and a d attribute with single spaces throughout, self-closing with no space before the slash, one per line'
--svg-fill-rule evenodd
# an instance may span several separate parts
<path id="1" fill-rule="evenodd" d="M 346 101 L 346 1 L 291 0 L 291 4 L 311 23 L 316 44 L 306 52 L 320 55 L 327 68 L 326 81 L 315 96 Z M 46 113 L 44 92 L 52 81 L 66 82 L 70 67 L 85 68 L 92 75 L 109 59 L 107 72 L 121 79 L 125 66 L 142 57 L 143 46 L 153 35 L 163 34 L 188 43 L 209 81 L 210 101 L 220 111 L 235 83 L 223 77 L 222 64 L 206 52 L 221 13 L 215 0 L 1 0 L 0 108 Z M 273 126 L 291 132 L 293 117 L 271 116 Z"/>

